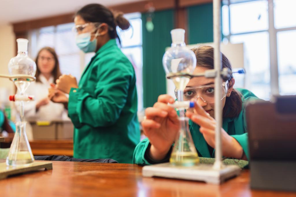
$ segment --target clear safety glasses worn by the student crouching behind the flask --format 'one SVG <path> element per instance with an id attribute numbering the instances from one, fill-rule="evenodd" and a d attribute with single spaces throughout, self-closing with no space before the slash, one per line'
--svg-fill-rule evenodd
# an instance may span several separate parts
<path id="1" fill-rule="evenodd" d="M 226 97 L 228 91 L 228 81 L 223 82 L 221 84 L 222 94 L 220 95 L 221 100 Z M 202 85 L 202 86 L 194 86 L 194 87 L 186 87 L 184 89 L 184 100 L 197 100 L 200 98 L 203 102 L 206 103 L 214 103 L 214 93 L 215 93 L 215 85 Z M 175 95 L 178 98 L 178 89 L 175 89 Z"/>

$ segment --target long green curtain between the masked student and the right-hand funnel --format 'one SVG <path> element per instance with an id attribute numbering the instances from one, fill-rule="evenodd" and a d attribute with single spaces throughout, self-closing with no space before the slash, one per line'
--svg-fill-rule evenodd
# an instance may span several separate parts
<path id="1" fill-rule="evenodd" d="M 144 108 L 153 106 L 157 97 L 166 93 L 162 58 L 165 48 L 172 43 L 170 30 L 174 28 L 174 11 L 155 12 L 152 18 L 154 24 L 152 32 L 146 29 L 147 16 L 142 14 Z"/>

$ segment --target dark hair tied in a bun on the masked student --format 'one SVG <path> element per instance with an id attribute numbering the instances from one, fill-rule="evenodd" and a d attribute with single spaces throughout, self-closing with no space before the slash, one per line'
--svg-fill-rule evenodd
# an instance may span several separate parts
<path id="1" fill-rule="evenodd" d="M 120 27 L 122 30 L 127 30 L 131 25 L 129 21 L 123 17 L 122 12 L 112 12 L 107 7 L 101 4 L 88 4 L 83 6 L 75 16 L 81 16 L 83 20 L 87 22 L 100 22 L 106 23 L 109 26 L 108 34 L 111 39 L 120 39 L 116 31 L 116 26 Z"/>

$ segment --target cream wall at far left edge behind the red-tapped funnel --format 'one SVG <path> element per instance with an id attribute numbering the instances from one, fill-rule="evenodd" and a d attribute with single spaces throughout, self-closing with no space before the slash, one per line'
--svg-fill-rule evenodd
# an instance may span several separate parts
<path id="1" fill-rule="evenodd" d="M 8 62 L 15 56 L 15 35 L 12 25 L 0 26 L 0 73 L 8 74 Z M 9 79 L 0 78 L 0 104 L 14 93 L 14 84 Z M 6 91 L 7 92 L 6 92 Z M 6 93 L 5 93 L 6 92 Z M 1 106 L 1 105 L 0 105 Z"/>

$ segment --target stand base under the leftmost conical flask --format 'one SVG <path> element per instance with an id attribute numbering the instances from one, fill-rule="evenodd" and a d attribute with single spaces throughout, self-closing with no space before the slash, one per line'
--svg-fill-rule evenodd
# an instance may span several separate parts
<path id="1" fill-rule="evenodd" d="M 20 174 L 23 172 L 36 171 L 45 168 L 45 170 L 52 170 L 52 162 L 36 162 L 32 164 L 21 165 L 16 167 L 9 167 L 6 163 L 0 163 L 0 179 L 7 178 L 10 175 Z"/>

